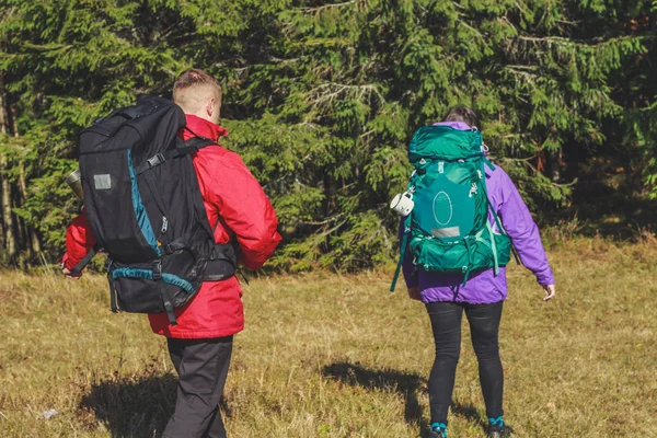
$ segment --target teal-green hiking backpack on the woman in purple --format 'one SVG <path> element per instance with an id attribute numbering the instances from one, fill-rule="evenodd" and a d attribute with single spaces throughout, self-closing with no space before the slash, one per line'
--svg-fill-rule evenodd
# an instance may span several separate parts
<path id="1" fill-rule="evenodd" d="M 391 291 L 394 290 L 406 251 L 420 269 L 462 273 L 463 285 L 473 270 L 506 266 L 511 241 L 491 207 L 484 166 L 495 170 L 484 153 L 476 128 L 458 130 L 425 126 L 415 132 L 408 160 L 415 168 L 406 189 L 414 203 L 404 220 L 401 256 Z M 488 211 L 497 223 L 496 232 Z"/>

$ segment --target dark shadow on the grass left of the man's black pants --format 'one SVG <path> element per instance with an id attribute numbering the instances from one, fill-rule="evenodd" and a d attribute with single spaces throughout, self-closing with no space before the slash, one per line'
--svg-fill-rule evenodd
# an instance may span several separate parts
<path id="1" fill-rule="evenodd" d="M 112 437 L 159 437 L 173 413 L 176 384 L 173 374 L 102 380 L 91 385 L 80 408 L 104 424 Z"/>

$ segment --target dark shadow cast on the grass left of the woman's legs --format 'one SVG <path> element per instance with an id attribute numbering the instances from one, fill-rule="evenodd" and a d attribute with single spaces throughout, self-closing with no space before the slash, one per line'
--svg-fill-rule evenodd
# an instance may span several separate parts
<path id="1" fill-rule="evenodd" d="M 406 401 L 404 419 L 410 424 L 418 425 L 423 431 L 428 430 L 429 425 L 422 416 L 422 407 L 417 400 L 420 387 L 426 385 L 426 380 L 422 377 L 394 370 L 372 370 L 347 362 L 328 365 L 324 367 L 322 374 L 351 387 L 397 391 Z"/>

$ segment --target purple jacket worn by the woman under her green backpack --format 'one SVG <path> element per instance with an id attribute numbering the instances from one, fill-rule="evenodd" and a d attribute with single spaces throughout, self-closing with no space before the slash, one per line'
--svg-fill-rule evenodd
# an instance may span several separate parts
<path id="1" fill-rule="evenodd" d="M 460 130 L 470 129 L 470 126 L 460 122 L 436 125 L 450 126 Z M 548 263 L 539 228 L 511 178 L 499 166 L 495 166 L 494 171 L 486 168 L 486 188 L 491 205 L 495 208 L 503 227 L 511 238 L 522 264 L 537 276 L 540 285 L 553 285 L 554 276 Z M 488 214 L 488 220 L 495 227 L 492 214 Z M 512 258 L 511 263 L 515 263 Z M 508 295 L 506 268 L 504 267 L 500 267 L 498 275 L 495 275 L 494 269 L 474 272 L 468 284 L 463 286 L 462 274 L 416 270 L 412 255 L 407 253 L 403 272 L 407 287 L 419 286 L 422 300 L 425 303 L 454 301 L 487 304 L 505 300 Z"/>

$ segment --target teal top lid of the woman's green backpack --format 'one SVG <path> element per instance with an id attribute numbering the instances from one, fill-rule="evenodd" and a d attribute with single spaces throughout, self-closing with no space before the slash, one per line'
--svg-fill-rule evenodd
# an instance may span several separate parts
<path id="1" fill-rule="evenodd" d="M 479 130 L 459 130 L 449 126 L 424 126 L 413 136 L 408 160 L 456 161 L 482 154 L 482 134 Z"/>

